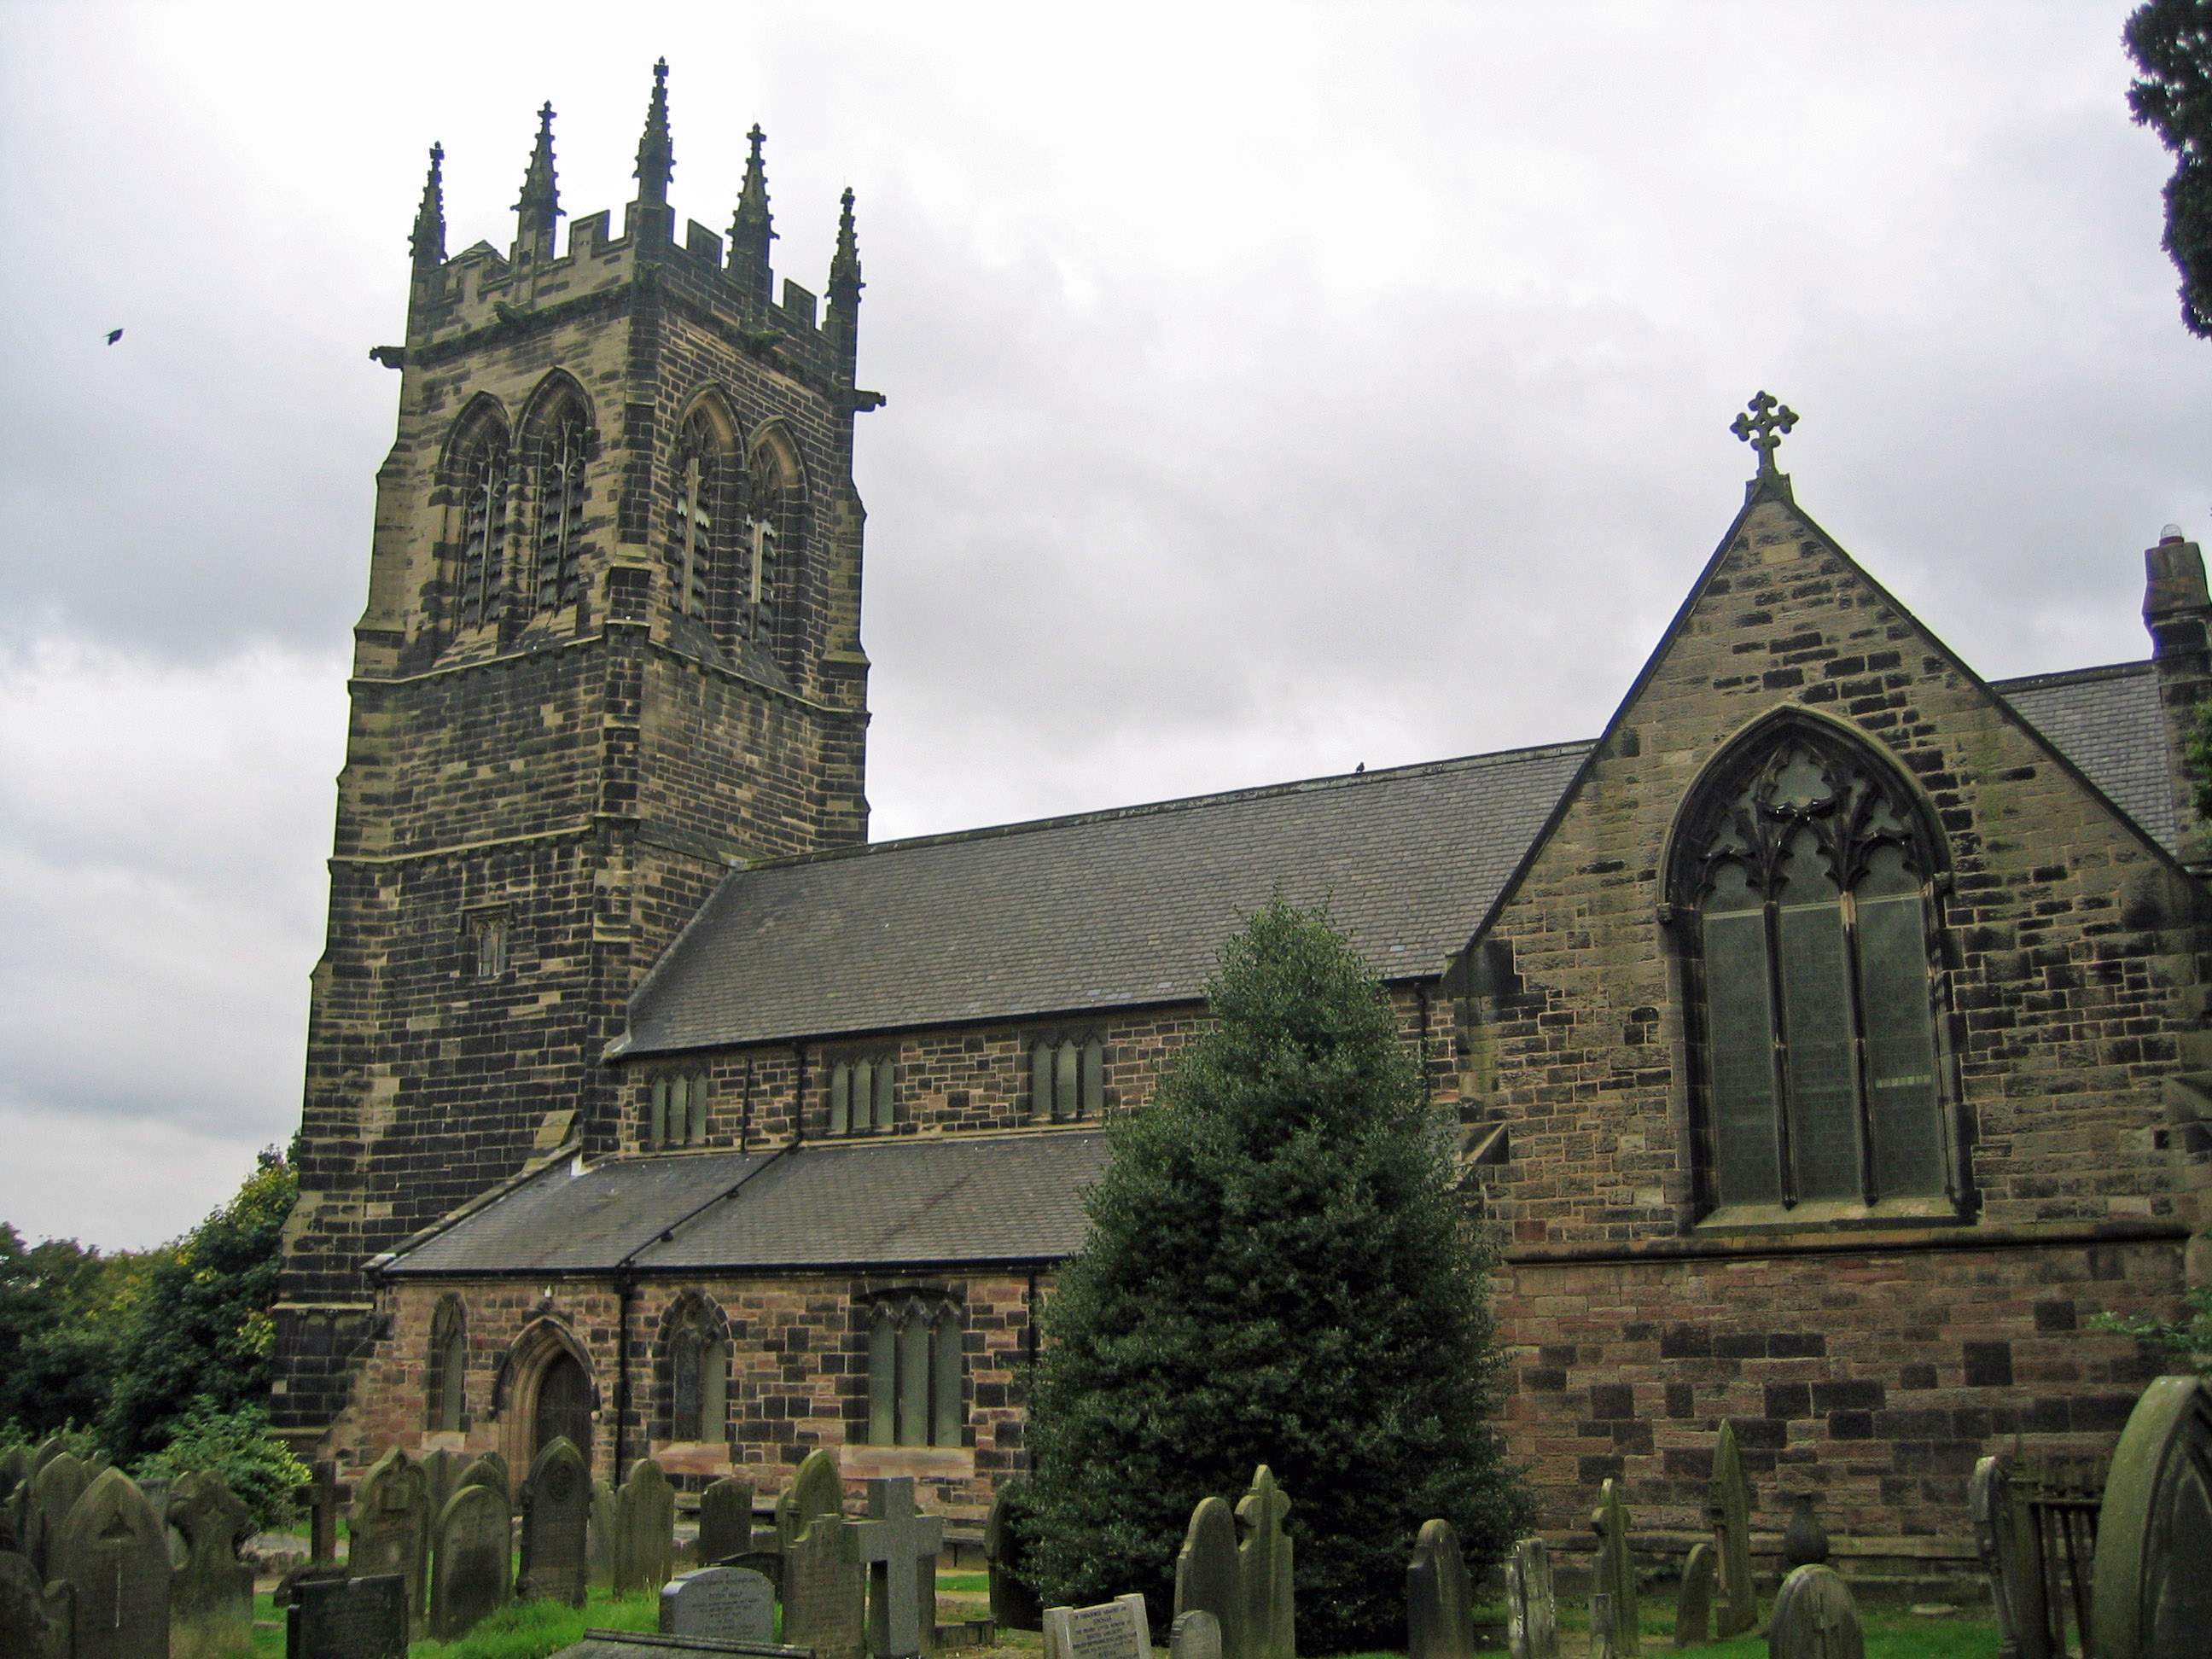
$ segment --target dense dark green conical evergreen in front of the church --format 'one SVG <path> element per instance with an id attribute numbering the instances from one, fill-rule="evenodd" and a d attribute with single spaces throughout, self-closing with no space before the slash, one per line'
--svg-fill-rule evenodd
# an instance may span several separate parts
<path id="1" fill-rule="evenodd" d="M 1172 1601 L 1192 1506 L 1256 1464 L 1292 1498 L 1298 1639 L 1396 1644 L 1429 1517 L 1473 1566 L 1528 1520 L 1489 1422 L 1491 1254 L 1383 989 L 1325 911 L 1261 909 L 1214 1024 L 1110 1126 L 1091 1237 L 1031 1378 L 1046 1604 Z"/>

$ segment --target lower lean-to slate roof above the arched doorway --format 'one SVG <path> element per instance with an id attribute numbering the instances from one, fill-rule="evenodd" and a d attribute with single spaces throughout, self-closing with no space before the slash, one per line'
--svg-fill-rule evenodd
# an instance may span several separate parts
<path id="1" fill-rule="evenodd" d="M 416 1245 L 394 1279 L 1060 1261 L 1084 1241 L 1099 1130 L 814 1141 L 560 1164 Z M 670 1234 L 670 1237 L 661 1237 Z"/>

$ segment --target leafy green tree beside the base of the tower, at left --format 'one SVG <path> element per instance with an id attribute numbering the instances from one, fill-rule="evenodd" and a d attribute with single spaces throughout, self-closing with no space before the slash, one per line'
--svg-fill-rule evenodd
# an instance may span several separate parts
<path id="1" fill-rule="evenodd" d="M 100 1433 L 117 1462 L 166 1447 L 186 1418 L 263 1405 L 279 1245 L 299 1181 L 276 1148 L 237 1197 L 155 1263 L 117 1356 Z"/>

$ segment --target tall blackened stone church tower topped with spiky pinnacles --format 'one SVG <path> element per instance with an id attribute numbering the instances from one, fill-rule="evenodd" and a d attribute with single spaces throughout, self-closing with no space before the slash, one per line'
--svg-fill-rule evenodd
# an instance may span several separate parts
<path id="1" fill-rule="evenodd" d="M 533 1159 L 615 1139 L 602 1048 L 739 860 L 867 838 L 852 192 L 827 312 L 772 292 L 752 131 L 723 239 L 637 199 L 562 217 L 553 108 L 513 248 L 414 226 L 398 440 L 354 630 L 314 971 L 276 1422 L 345 1409 L 363 1263 Z"/>

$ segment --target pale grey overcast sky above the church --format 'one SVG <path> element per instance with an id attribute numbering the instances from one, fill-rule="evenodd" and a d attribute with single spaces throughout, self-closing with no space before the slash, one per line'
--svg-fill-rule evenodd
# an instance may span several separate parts
<path id="1" fill-rule="evenodd" d="M 299 1115 L 407 226 L 533 111 L 860 197 L 876 836 L 1593 734 L 1730 416 L 1991 677 L 2212 529 L 2126 4 L 0 0 L 0 1219 L 146 1245 Z M 124 330 L 117 345 L 106 332 Z M 1473 922 L 1473 916 L 1469 916 Z"/>

